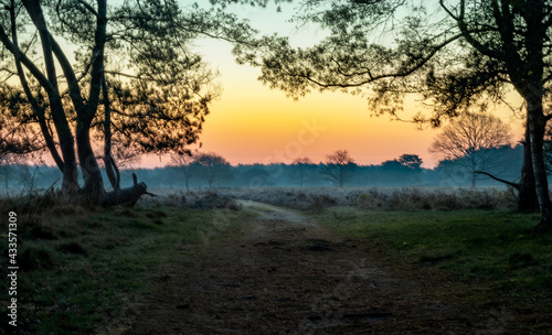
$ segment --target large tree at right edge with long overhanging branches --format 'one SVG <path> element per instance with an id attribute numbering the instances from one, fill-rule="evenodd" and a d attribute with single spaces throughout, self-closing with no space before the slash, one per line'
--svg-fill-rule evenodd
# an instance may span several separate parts
<path id="1" fill-rule="evenodd" d="M 219 0 L 229 1 L 234 2 Z M 552 118 L 543 109 L 552 91 L 550 1 L 297 2 L 297 25 L 318 24 L 328 35 L 310 47 L 294 47 L 285 36 L 259 37 L 254 47 L 234 50 L 238 62 L 259 66 L 262 82 L 295 98 L 312 89 L 364 91 L 375 115 L 400 118 L 405 96 L 414 94 L 433 109 L 414 120 L 435 127 L 470 108 L 505 101 L 513 89 L 527 114 L 521 190 L 534 179 L 539 227 L 552 229 L 543 159 Z"/>

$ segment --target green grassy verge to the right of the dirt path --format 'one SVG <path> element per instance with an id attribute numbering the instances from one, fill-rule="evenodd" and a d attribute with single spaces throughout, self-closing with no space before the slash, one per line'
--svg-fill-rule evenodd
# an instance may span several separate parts
<path id="1" fill-rule="evenodd" d="M 379 242 L 391 257 L 437 267 L 474 285 L 552 312 L 552 236 L 531 231 L 534 215 L 509 210 L 309 213 L 343 237 Z M 477 299 L 477 296 L 473 296 Z"/>

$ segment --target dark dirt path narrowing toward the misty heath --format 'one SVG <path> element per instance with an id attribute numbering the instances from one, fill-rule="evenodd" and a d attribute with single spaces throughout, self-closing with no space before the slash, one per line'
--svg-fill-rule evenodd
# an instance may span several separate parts
<path id="1" fill-rule="evenodd" d="M 500 317 L 443 301 L 450 283 L 397 275 L 290 210 L 244 206 L 256 228 L 161 273 L 125 334 L 503 334 Z"/>

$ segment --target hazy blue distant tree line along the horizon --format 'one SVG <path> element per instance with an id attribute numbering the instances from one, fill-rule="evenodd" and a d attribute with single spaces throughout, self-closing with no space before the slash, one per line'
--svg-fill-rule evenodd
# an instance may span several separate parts
<path id="1" fill-rule="evenodd" d="M 493 173 L 506 180 L 519 180 L 522 164 L 522 144 L 480 149 L 486 156 L 507 164 L 496 168 Z M 482 153 L 481 153 L 482 154 Z M 436 168 L 423 168 L 417 154 L 402 154 L 381 164 L 362 165 L 346 150 L 330 153 L 325 162 L 315 163 L 301 158 L 293 163 L 238 164 L 231 165 L 215 153 L 179 155 L 172 165 L 158 169 L 121 170 L 121 181 L 131 182 L 131 173 L 147 177 L 153 187 L 469 187 L 473 185 L 473 170 L 463 163 L 464 158 L 442 160 Z M 60 180 L 59 170 L 46 165 L 6 165 L 0 169 L 4 183 L 1 188 L 22 190 L 29 185 L 30 175 L 40 175 L 33 187 L 47 188 Z M 105 174 L 105 171 L 102 170 Z M 26 177 L 23 177 L 26 175 Z M 477 176 L 478 186 L 501 186 L 502 184 L 484 175 Z M 26 183 L 26 184 L 25 184 Z"/>

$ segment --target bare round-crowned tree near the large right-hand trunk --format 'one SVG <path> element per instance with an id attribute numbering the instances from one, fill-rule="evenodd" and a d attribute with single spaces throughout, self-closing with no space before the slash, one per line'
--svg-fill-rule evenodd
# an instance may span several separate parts
<path id="1" fill-rule="evenodd" d="M 487 114 L 465 114 L 443 128 L 429 147 L 429 152 L 466 169 L 476 186 L 476 171 L 492 171 L 502 165 L 492 148 L 509 145 L 510 127 Z"/>

